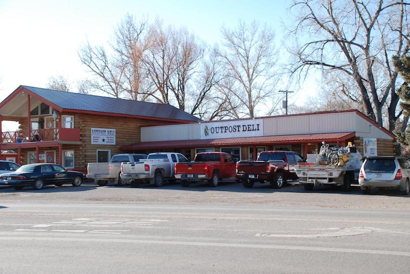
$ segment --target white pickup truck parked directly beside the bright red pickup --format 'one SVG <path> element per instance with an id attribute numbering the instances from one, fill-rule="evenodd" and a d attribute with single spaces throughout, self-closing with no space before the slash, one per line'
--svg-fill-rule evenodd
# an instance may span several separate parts
<path id="1" fill-rule="evenodd" d="M 132 186 L 148 181 L 161 186 L 165 179 L 175 181 L 175 163 L 189 162 L 185 156 L 174 152 L 148 154 L 147 159 L 121 164 L 121 180 L 130 181 Z"/>

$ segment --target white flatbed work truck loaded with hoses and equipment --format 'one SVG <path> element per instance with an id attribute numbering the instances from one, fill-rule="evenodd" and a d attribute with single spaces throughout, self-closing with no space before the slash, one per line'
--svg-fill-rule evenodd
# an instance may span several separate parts
<path id="1" fill-rule="evenodd" d="M 341 185 L 348 191 L 359 178 L 362 156 L 351 142 L 346 147 L 329 147 L 322 142 L 319 153 L 308 154 L 308 162 L 298 163 L 299 184 L 312 190 L 315 185 Z"/>

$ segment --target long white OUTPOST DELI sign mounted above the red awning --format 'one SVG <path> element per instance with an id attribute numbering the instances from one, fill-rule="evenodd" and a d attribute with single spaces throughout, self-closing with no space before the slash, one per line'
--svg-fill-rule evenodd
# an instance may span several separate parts
<path id="1" fill-rule="evenodd" d="M 201 139 L 263 136 L 263 120 L 247 119 L 201 123 Z"/>

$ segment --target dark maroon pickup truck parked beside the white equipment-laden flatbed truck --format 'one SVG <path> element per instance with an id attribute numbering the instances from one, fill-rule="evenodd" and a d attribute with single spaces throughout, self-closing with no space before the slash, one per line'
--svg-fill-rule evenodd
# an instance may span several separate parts
<path id="1" fill-rule="evenodd" d="M 293 151 L 264 151 L 257 161 L 239 161 L 236 163 L 236 177 L 244 187 L 252 187 L 255 182 L 269 182 L 275 188 L 281 188 L 286 180 L 296 180 L 297 162 L 303 158 Z"/>

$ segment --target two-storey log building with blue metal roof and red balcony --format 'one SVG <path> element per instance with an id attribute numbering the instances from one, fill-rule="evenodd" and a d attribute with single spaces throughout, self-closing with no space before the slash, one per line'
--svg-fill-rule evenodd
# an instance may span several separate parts
<path id="1" fill-rule="evenodd" d="M 20 86 L 0 103 L 0 155 L 19 164 L 50 162 L 85 171 L 88 162 L 107 162 L 119 147 L 140 141 L 140 128 L 197 122 L 169 104 Z"/>

